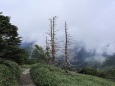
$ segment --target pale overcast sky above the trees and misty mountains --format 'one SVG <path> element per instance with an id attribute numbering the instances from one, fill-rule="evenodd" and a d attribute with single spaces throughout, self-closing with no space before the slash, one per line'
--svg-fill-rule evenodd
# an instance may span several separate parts
<path id="1" fill-rule="evenodd" d="M 68 31 L 87 49 L 115 52 L 115 0 L 0 0 L 0 11 L 11 17 L 23 41 L 43 45 L 50 28 L 49 18 L 58 16 L 57 38 Z"/>

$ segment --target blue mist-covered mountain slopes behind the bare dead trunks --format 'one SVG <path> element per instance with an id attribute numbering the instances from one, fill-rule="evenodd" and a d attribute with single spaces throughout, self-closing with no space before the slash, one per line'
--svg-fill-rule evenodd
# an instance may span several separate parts
<path id="1" fill-rule="evenodd" d="M 32 54 L 33 46 L 35 42 L 24 42 L 21 44 L 22 48 L 25 48 L 28 52 L 29 56 Z M 77 46 L 74 46 L 69 50 L 70 53 L 74 55 L 70 55 L 70 59 L 74 59 L 75 61 L 70 61 L 72 65 L 76 65 L 77 68 L 82 67 L 92 67 L 92 68 L 104 68 L 104 67 L 114 67 L 115 66 L 115 54 L 108 55 L 107 53 L 98 54 L 96 50 L 87 50 L 84 45 L 78 43 Z M 63 62 L 63 57 L 61 60 Z"/>

